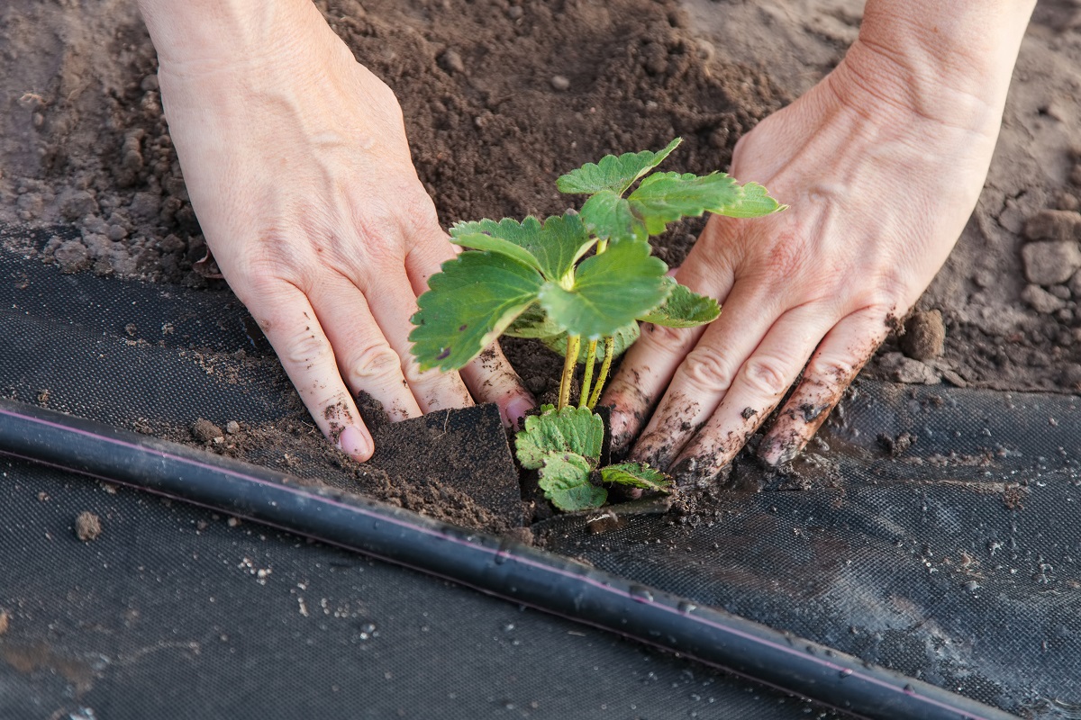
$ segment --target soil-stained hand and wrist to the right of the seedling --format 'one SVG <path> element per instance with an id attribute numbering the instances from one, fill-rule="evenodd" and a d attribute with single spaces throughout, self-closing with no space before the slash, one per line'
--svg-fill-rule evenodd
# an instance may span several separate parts
<path id="1" fill-rule="evenodd" d="M 790 461 L 942 267 L 982 190 L 1019 31 L 1012 56 L 992 43 L 1004 72 L 1001 56 L 990 72 L 979 49 L 959 50 L 958 66 L 991 76 L 966 84 L 934 57 L 888 50 L 896 19 L 872 4 L 844 62 L 736 146 L 732 175 L 790 209 L 710 218 L 676 279 L 721 300 L 721 317 L 644 326 L 602 399 L 614 445 L 641 432 L 631 457 L 682 483 L 717 476 L 802 370 L 758 449 Z"/>

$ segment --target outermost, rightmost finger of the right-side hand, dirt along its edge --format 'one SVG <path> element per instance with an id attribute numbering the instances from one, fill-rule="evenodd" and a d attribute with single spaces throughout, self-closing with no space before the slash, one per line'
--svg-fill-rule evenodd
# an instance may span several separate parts
<path id="1" fill-rule="evenodd" d="M 868 309 L 849 315 L 826 336 L 803 379 L 758 448 L 766 464 L 791 462 L 826 421 L 845 389 L 889 335 L 886 313 Z"/>

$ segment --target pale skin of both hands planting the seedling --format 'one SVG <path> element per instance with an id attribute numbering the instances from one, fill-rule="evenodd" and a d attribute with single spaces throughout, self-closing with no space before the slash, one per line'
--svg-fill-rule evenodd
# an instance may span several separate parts
<path id="1" fill-rule="evenodd" d="M 454 250 L 391 91 L 308 0 L 139 4 L 208 245 L 320 430 L 366 460 L 361 391 L 392 419 L 477 400 L 517 420 L 533 399 L 497 349 L 461 375 L 409 354 L 416 296 Z M 724 311 L 643 328 L 602 398 L 618 445 L 708 480 L 802 371 L 759 456 L 803 448 L 971 215 L 1033 5 L 868 1 L 844 60 L 737 145 L 732 175 L 790 208 L 709 220 L 676 276 Z"/>

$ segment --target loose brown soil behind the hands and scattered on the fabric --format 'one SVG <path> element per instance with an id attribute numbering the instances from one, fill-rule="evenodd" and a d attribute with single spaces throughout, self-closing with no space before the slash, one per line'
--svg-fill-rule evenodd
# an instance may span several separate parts
<path id="1" fill-rule="evenodd" d="M 317 4 L 358 59 L 397 93 L 417 173 L 444 226 L 560 213 L 568 199 L 555 179 L 563 172 L 605 153 L 659 148 L 676 136 L 684 142 L 673 167 L 724 169 L 742 135 L 839 62 L 863 6 L 859 0 Z M 0 9 L 0 58 L 9 69 L 0 78 L 0 221 L 80 231 L 79 239 L 46 236 L 17 249 L 58 272 L 224 287 L 200 262 L 205 242 L 134 3 L 102 0 L 91 9 L 9 0 Z M 898 322 L 907 334 L 891 337 L 866 373 L 943 383 L 944 392 L 1081 391 L 1081 274 L 1052 272 L 1051 257 L 1054 242 L 1081 239 L 1079 68 L 1081 10 L 1069 0 L 1043 0 L 976 212 L 918 312 Z M 677 226 L 659 239 L 657 255 L 679 264 L 700 227 Z M 560 358 L 533 341 L 508 340 L 504 348 L 530 390 L 551 391 Z M 237 421 L 242 432 L 219 446 L 193 440 L 188 429 L 176 432 L 245 459 L 257 460 L 261 447 L 296 447 L 297 458 L 322 452 L 338 474 L 346 470 L 378 497 L 473 527 L 499 525 L 446 488 L 413 487 L 401 476 L 350 465 L 325 449 L 303 413 L 267 427 Z M 275 457 L 280 463 L 281 452 Z M 301 464 L 286 470 L 330 474 Z M 815 481 L 830 481 L 828 468 L 810 472 L 816 474 Z"/>

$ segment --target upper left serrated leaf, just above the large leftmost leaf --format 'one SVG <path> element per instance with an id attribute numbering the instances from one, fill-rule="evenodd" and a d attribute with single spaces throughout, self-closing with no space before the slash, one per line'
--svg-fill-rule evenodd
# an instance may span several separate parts
<path id="1" fill-rule="evenodd" d="M 491 240 L 477 235 L 486 235 Z M 582 218 L 575 213 L 552 216 L 544 225 L 533 216 L 521 223 L 511 218 L 498 222 L 488 219 L 458 222 L 451 228 L 451 236 L 459 245 L 503 253 L 519 262 L 524 262 L 521 257 L 528 255 L 533 261 L 525 264 L 536 268 L 545 280 L 553 283 L 560 282 L 597 242 L 586 232 Z"/>

